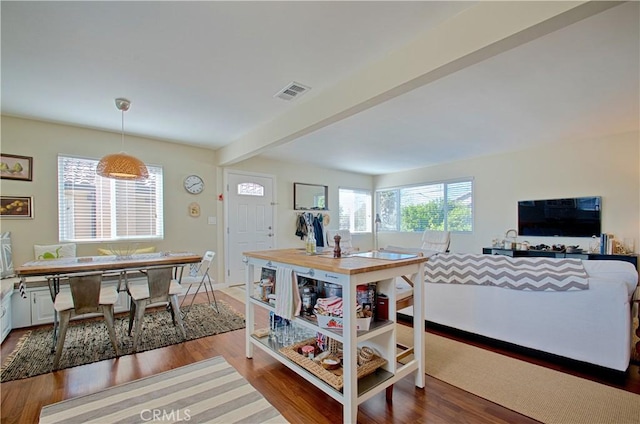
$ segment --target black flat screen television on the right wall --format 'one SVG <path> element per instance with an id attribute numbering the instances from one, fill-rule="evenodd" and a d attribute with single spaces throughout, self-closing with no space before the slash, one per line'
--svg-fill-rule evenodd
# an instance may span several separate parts
<path id="1" fill-rule="evenodd" d="M 521 200 L 518 235 L 543 237 L 600 236 L 602 198 Z"/>

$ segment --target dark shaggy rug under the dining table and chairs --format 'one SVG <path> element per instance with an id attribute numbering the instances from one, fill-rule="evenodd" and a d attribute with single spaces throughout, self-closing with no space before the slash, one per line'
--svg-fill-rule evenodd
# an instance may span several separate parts
<path id="1" fill-rule="evenodd" d="M 220 312 L 208 304 L 195 304 L 184 308 L 188 314 L 184 320 L 186 340 L 199 339 L 226 333 L 245 327 L 244 315 L 229 304 L 218 300 Z M 133 334 L 129 336 L 128 316 L 115 320 L 116 338 L 120 355 L 133 353 Z M 18 380 L 51 372 L 53 369 L 53 326 L 26 333 L 16 349 L 4 360 L 0 381 Z M 157 349 L 184 340 L 171 321 L 171 314 L 164 308 L 147 312 L 143 332 L 138 341 L 138 352 Z M 70 368 L 115 357 L 106 325 L 102 319 L 73 321 L 67 330 L 59 368 Z"/>

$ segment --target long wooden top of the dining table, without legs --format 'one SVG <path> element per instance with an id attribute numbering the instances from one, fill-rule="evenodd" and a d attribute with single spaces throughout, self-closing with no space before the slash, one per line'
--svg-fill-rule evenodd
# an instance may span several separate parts
<path id="1" fill-rule="evenodd" d="M 116 256 L 81 256 L 27 262 L 14 269 L 19 277 L 67 274 L 91 271 L 144 269 L 149 266 L 184 265 L 200 262 L 202 256 L 191 252 L 145 253 L 119 259 Z"/>

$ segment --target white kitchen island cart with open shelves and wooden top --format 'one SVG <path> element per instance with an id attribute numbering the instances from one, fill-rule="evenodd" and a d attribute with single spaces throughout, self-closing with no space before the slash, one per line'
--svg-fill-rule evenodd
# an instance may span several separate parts
<path id="1" fill-rule="evenodd" d="M 411 257 L 402 260 L 383 260 L 377 258 L 342 258 L 331 256 L 307 256 L 300 249 L 269 250 L 245 253 L 247 263 L 246 281 L 246 356 L 253 356 L 253 349 L 257 347 L 282 364 L 296 372 L 309 383 L 324 391 L 343 405 L 343 420 L 345 423 L 355 423 L 358 405 L 385 390 L 400 379 L 415 374 L 415 385 L 424 387 L 424 311 L 423 286 L 418 276 L 424 275 L 426 258 Z M 254 298 L 254 282 L 252 276 L 258 267 L 278 269 L 284 267 L 295 271 L 299 276 L 313 278 L 320 282 L 338 284 L 342 287 L 343 325 L 341 331 L 318 327 L 314 321 L 305 318 L 294 318 L 294 322 L 327 335 L 342 343 L 343 346 L 343 385 L 342 390 L 336 390 L 321 378 L 299 366 L 296 362 L 280 352 L 284 347 L 268 337 L 258 337 L 255 330 L 255 310 L 264 308 L 273 311 L 274 308 Z M 395 325 L 395 284 L 398 276 L 411 275 L 414 282 L 414 359 L 405 364 L 396 361 L 396 325 Z M 356 287 L 361 284 L 376 283 L 378 291 L 389 297 L 389 321 L 376 323 L 368 331 L 358 331 L 356 321 Z M 276 289 L 279 282 L 276 281 Z M 277 290 L 276 290 L 277 295 Z M 373 324 L 373 323 L 372 323 Z M 380 372 L 358 379 L 357 354 L 359 347 L 372 347 L 386 363 Z"/>

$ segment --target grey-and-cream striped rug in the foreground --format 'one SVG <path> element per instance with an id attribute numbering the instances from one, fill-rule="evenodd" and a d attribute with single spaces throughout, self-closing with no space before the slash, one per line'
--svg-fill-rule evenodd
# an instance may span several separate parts
<path id="1" fill-rule="evenodd" d="M 52 423 L 285 423 L 221 356 L 47 405 Z"/>

